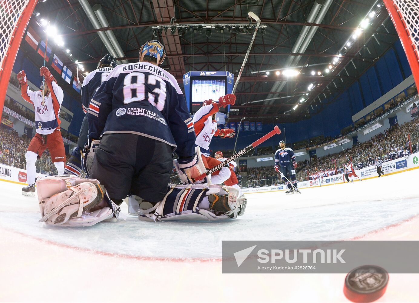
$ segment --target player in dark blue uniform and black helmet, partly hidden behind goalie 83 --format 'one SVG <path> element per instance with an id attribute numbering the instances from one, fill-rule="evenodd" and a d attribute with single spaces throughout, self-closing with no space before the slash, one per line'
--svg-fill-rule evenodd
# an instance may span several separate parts
<path id="1" fill-rule="evenodd" d="M 93 70 L 90 74 L 87 75 L 83 80 L 83 85 L 81 88 L 81 102 L 83 106 L 83 112 L 86 116 L 83 119 L 83 122 L 80 127 L 79 138 L 77 142 L 77 147 L 73 150 L 70 160 L 65 166 L 65 174 L 80 176 L 81 171 L 83 170 L 81 165 L 81 152 L 85 143 L 87 142 L 89 127 L 87 124 L 87 111 L 90 106 L 90 100 L 93 97 L 93 94 L 96 93 L 99 86 L 106 79 L 106 77 L 114 70 L 116 66 L 116 58 L 110 54 L 106 54 L 98 63 L 96 70 Z"/>

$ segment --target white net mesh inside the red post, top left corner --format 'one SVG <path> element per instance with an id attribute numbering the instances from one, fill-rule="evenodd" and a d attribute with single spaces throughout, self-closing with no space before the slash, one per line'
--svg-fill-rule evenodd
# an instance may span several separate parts
<path id="1" fill-rule="evenodd" d="M 7 55 L 10 41 L 13 39 L 19 17 L 29 0 L 0 0 L 0 68 Z"/>

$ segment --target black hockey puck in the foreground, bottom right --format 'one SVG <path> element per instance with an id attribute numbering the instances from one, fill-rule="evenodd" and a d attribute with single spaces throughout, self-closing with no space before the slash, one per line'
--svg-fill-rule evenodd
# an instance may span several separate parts
<path id="1" fill-rule="evenodd" d="M 345 278 L 343 293 L 352 302 L 373 302 L 387 288 L 388 273 L 375 265 L 363 265 L 352 269 Z"/>

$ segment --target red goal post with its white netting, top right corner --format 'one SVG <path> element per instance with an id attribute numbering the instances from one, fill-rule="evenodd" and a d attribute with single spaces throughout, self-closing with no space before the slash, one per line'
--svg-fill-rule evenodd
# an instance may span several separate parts
<path id="1" fill-rule="evenodd" d="M 419 85 L 419 0 L 383 0 Z"/>

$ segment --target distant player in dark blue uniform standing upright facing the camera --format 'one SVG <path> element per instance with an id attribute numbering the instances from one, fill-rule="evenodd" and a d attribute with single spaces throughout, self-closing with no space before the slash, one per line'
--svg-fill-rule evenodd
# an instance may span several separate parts
<path id="1" fill-rule="evenodd" d="M 288 187 L 286 194 L 299 192 L 297 189 L 297 178 L 295 176 L 295 168 L 297 162 L 295 161 L 294 151 L 291 148 L 285 147 L 285 141 L 279 141 L 279 150 L 275 152 L 275 171 L 281 174 L 282 180 Z M 291 179 L 291 182 L 289 181 Z"/>

